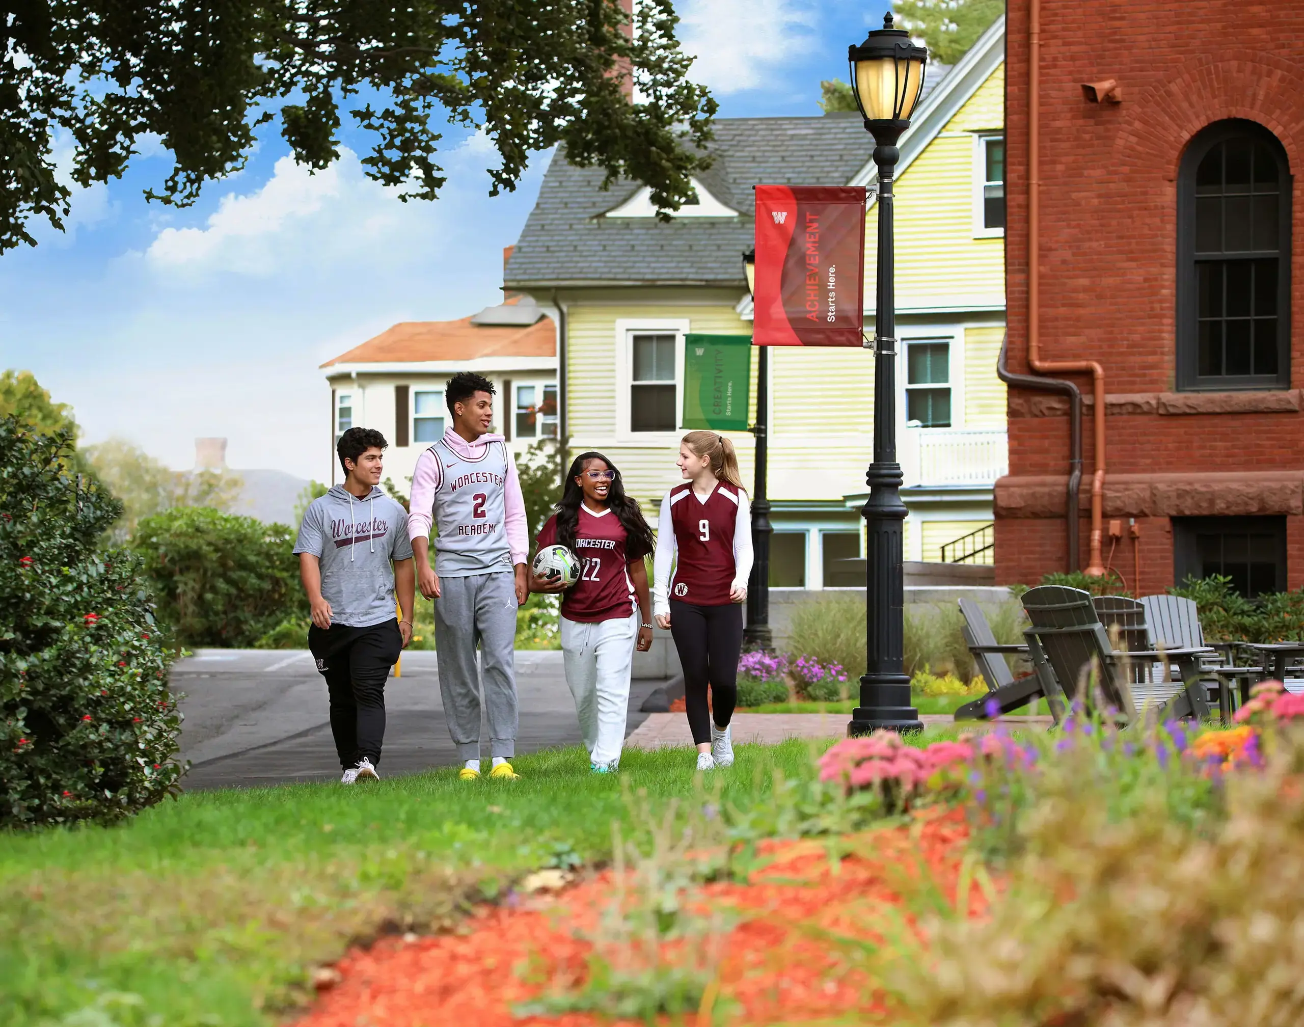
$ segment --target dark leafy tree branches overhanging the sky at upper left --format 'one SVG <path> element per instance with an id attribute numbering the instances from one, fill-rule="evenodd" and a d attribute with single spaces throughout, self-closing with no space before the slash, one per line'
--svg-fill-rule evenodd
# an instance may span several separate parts
<path id="1" fill-rule="evenodd" d="M 339 156 L 347 113 L 373 141 L 363 159 L 400 198 L 434 199 L 439 117 L 496 146 L 490 194 L 514 189 L 531 151 L 691 197 L 716 103 L 686 80 L 672 0 L 23 0 L 0 7 L 0 252 L 61 228 L 70 190 L 121 177 L 156 136 L 173 168 L 146 195 L 193 203 L 239 171 L 259 125 L 279 121 L 295 159 Z M 634 100 L 626 98 L 632 81 Z"/>

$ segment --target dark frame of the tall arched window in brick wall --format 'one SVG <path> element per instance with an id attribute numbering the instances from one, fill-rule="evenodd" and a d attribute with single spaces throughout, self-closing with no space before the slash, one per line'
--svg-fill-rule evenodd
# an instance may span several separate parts
<path id="1" fill-rule="evenodd" d="M 1277 233 L 1277 374 L 1201 375 L 1198 323 L 1198 261 L 1196 259 L 1196 172 L 1217 145 L 1237 137 L 1267 143 L 1278 163 Z M 1266 128 L 1243 119 L 1217 121 L 1191 141 L 1178 172 L 1178 339 L 1179 392 L 1249 392 L 1290 388 L 1291 384 L 1291 190 L 1294 176 L 1281 141 Z M 1244 258 L 1254 259 L 1248 252 Z M 1262 258 L 1260 258 L 1262 259 Z"/>

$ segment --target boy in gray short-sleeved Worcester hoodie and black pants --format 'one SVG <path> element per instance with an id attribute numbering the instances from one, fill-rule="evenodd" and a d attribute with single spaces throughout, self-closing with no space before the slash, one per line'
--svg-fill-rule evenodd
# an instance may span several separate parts
<path id="1" fill-rule="evenodd" d="M 295 553 L 312 607 L 308 648 L 326 679 L 340 781 L 376 781 L 385 683 L 412 641 L 416 588 L 407 512 L 377 485 L 385 437 L 351 427 L 335 447 L 344 484 L 304 512 Z M 394 593 L 402 618 L 394 615 Z"/>

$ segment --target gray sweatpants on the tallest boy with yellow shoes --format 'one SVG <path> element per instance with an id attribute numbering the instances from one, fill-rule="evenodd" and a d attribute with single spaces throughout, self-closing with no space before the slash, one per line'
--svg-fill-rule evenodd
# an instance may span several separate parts
<path id="1" fill-rule="evenodd" d="M 516 755 L 516 576 L 439 577 L 434 650 L 439 695 L 459 760 L 480 759 L 480 682 L 489 716 L 489 755 Z M 476 643 L 481 667 L 476 667 Z"/>

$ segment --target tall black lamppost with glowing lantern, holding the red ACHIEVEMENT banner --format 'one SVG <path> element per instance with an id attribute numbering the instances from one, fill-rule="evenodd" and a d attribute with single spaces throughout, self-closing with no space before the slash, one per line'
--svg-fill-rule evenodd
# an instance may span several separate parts
<path id="1" fill-rule="evenodd" d="M 859 46 L 848 47 L 852 90 L 874 136 L 879 168 L 878 293 L 874 313 L 874 463 L 865 476 L 870 498 L 865 517 L 866 667 L 861 705 L 848 734 L 879 727 L 918 731 L 919 714 L 910 705 L 910 679 L 902 670 L 904 606 L 901 465 L 896 459 L 896 295 L 893 291 L 892 176 L 901 152 L 897 139 L 910 126 L 923 87 L 928 51 L 908 33 L 892 27 L 892 14 Z"/>

